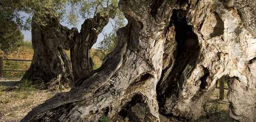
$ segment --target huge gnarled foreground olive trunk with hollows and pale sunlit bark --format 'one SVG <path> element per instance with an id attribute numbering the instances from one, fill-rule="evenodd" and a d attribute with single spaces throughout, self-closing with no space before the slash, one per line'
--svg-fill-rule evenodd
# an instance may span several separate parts
<path id="1" fill-rule="evenodd" d="M 118 29 L 118 45 L 102 66 L 21 121 L 95 122 L 102 114 L 132 121 L 134 106 L 144 108 L 146 122 L 196 120 L 216 80 L 227 75 L 230 116 L 255 122 L 255 5 L 254 0 L 120 0 L 128 24 Z"/>

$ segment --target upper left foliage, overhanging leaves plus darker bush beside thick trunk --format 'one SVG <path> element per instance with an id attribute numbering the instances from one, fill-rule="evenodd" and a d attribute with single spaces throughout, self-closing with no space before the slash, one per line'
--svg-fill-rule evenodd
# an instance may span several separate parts
<path id="1" fill-rule="evenodd" d="M 61 16 L 63 0 L 0 0 L 0 49 L 2 53 L 16 51 L 24 39 L 21 29 L 30 30 L 32 15 L 44 24 L 47 15 Z"/>

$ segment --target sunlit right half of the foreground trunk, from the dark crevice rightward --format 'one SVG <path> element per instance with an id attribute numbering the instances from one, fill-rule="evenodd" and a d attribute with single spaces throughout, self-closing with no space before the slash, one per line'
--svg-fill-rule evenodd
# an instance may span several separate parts
<path id="1" fill-rule="evenodd" d="M 227 2 L 192 0 L 186 3 L 188 7 L 175 10 L 178 18 L 185 17 L 186 23 L 191 25 L 190 31 L 188 27 L 183 27 L 182 31 L 193 30 L 200 48 L 184 48 L 184 43 L 179 46 L 182 38 L 189 36 L 179 33 L 182 23 L 175 25 L 172 19 L 175 29 L 178 27 L 175 31 L 178 45 L 176 58 L 163 68 L 162 79 L 158 82 L 161 114 L 181 120 L 197 119 L 203 113 L 203 105 L 214 90 L 216 80 L 228 75 L 232 84 L 228 93 L 230 116 L 238 121 L 256 121 L 256 98 L 252 97 L 256 95 L 256 64 L 249 63 L 256 56 L 256 28 L 255 24 L 250 26 L 247 22 L 255 23 L 256 2 L 237 0 L 231 2 L 232 8 L 226 6 L 230 4 Z M 244 9 L 234 7 L 249 3 Z"/>

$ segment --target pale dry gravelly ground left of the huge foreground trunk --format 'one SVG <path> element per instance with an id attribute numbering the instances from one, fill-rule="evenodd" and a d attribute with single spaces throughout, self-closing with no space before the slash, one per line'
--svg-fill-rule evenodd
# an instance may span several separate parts
<path id="1" fill-rule="evenodd" d="M 18 122 L 32 108 L 40 105 L 58 92 L 37 90 L 34 88 L 3 91 L 6 87 L 15 86 L 17 80 L 0 80 L 0 122 Z M 62 92 L 66 92 L 68 89 Z"/>

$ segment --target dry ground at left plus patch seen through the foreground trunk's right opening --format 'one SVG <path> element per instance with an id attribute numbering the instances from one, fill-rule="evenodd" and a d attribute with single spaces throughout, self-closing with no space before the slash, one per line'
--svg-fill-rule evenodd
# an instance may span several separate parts
<path id="1" fill-rule="evenodd" d="M 58 92 L 37 90 L 31 87 L 23 87 L 22 89 L 14 89 L 12 91 L 4 91 L 6 87 L 15 86 L 17 80 L 0 80 L 0 122 L 18 122 L 32 108 L 40 105 Z M 67 92 L 66 89 L 62 92 Z M 227 94 L 225 90 L 225 94 Z M 232 122 L 228 114 L 228 100 L 218 100 L 218 89 L 207 101 L 204 109 L 207 116 L 202 117 L 195 122 Z"/>

